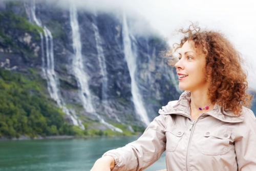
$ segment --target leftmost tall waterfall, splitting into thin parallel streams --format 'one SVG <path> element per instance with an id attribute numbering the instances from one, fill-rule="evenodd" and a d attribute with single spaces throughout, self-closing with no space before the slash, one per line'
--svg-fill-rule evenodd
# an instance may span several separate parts
<path id="1" fill-rule="evenodd" d="M 36 18 L 35 15 L 35 1 L 31 1 L 31 4 L 28 5 L 25 3 L 26 12 L 28 13 L 30 22 L 34 22 L 37 26 L 42 27 L 39 20 Z M 44 36 L 40 33 L 41 38 L 41 51 L 42 51 L 42 71 L 44 76 L 47 79 L 47 88 L 51 98 L 53 98 L 58 106 L 62 109 L 64 113 L 70 116 L 72 122 L 76 126 L 80 126 L 82 130 L 84 130 L 84 126 L 76 116 L 75 113 L 71 113 L 67 108 L 65 102 L 62 100 L 59 89 L 58 89 L 58 77 L 54 71 L 54 53 L 53 53 L 53 37 L 46 26 L 42 27 L 44 30 L 45 35 L 45 42 L 46 42 L 46 52 L 44 48 Z M 46 53 L 46 57 L 45 57 Z"/>

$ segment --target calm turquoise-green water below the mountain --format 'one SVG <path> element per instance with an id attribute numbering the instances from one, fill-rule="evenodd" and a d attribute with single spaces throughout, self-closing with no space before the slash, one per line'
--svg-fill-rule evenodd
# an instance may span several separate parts
<path id="1" fill-rule="evenodd" d="M 138 137 L 0 141 L 0 170 L 90 170 L 109 149 Z M 145 169 L 165 168 L 165 155 Z"/>

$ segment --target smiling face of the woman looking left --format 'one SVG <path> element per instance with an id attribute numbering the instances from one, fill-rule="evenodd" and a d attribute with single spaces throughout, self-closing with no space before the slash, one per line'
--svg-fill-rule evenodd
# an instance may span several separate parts
<path id="1" fill-rule="evenodd" d="M 179 53 L 179 61 L 175 64 L 179 77 L 179 88 L 186 91 L 202 91 L 208 89 L 206 81 L 206 56 L 194 49 L 194 45 L 186 41 Z"/>

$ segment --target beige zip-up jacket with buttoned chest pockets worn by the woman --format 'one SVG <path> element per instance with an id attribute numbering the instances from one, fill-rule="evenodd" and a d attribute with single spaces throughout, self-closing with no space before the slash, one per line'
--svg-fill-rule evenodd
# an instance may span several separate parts
<path id="1" fill-rule="evenodd" d="M 215 105 L 197 120 L 190 117 L 190 92 L 159 110 L 143 135 L 104 155 L 115 159 L 113 170 L 143 170 L 166 151 L 170 170 L 256 170 L 256 121 L 243 108 L 239 117 Z M 159 166 L 163 168 L 163 166 Z"/>

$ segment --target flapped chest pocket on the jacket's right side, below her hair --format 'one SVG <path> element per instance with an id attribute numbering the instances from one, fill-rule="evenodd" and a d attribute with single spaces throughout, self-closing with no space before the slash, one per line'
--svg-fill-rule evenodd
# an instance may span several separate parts
<path id="1" fill-rule="evenodd" d="M 229 151 L 231 129 L 219 127 L 216 130 L 205 131 L 201 140 L 201 152 L 204 155 L 224 155 Z"/>

